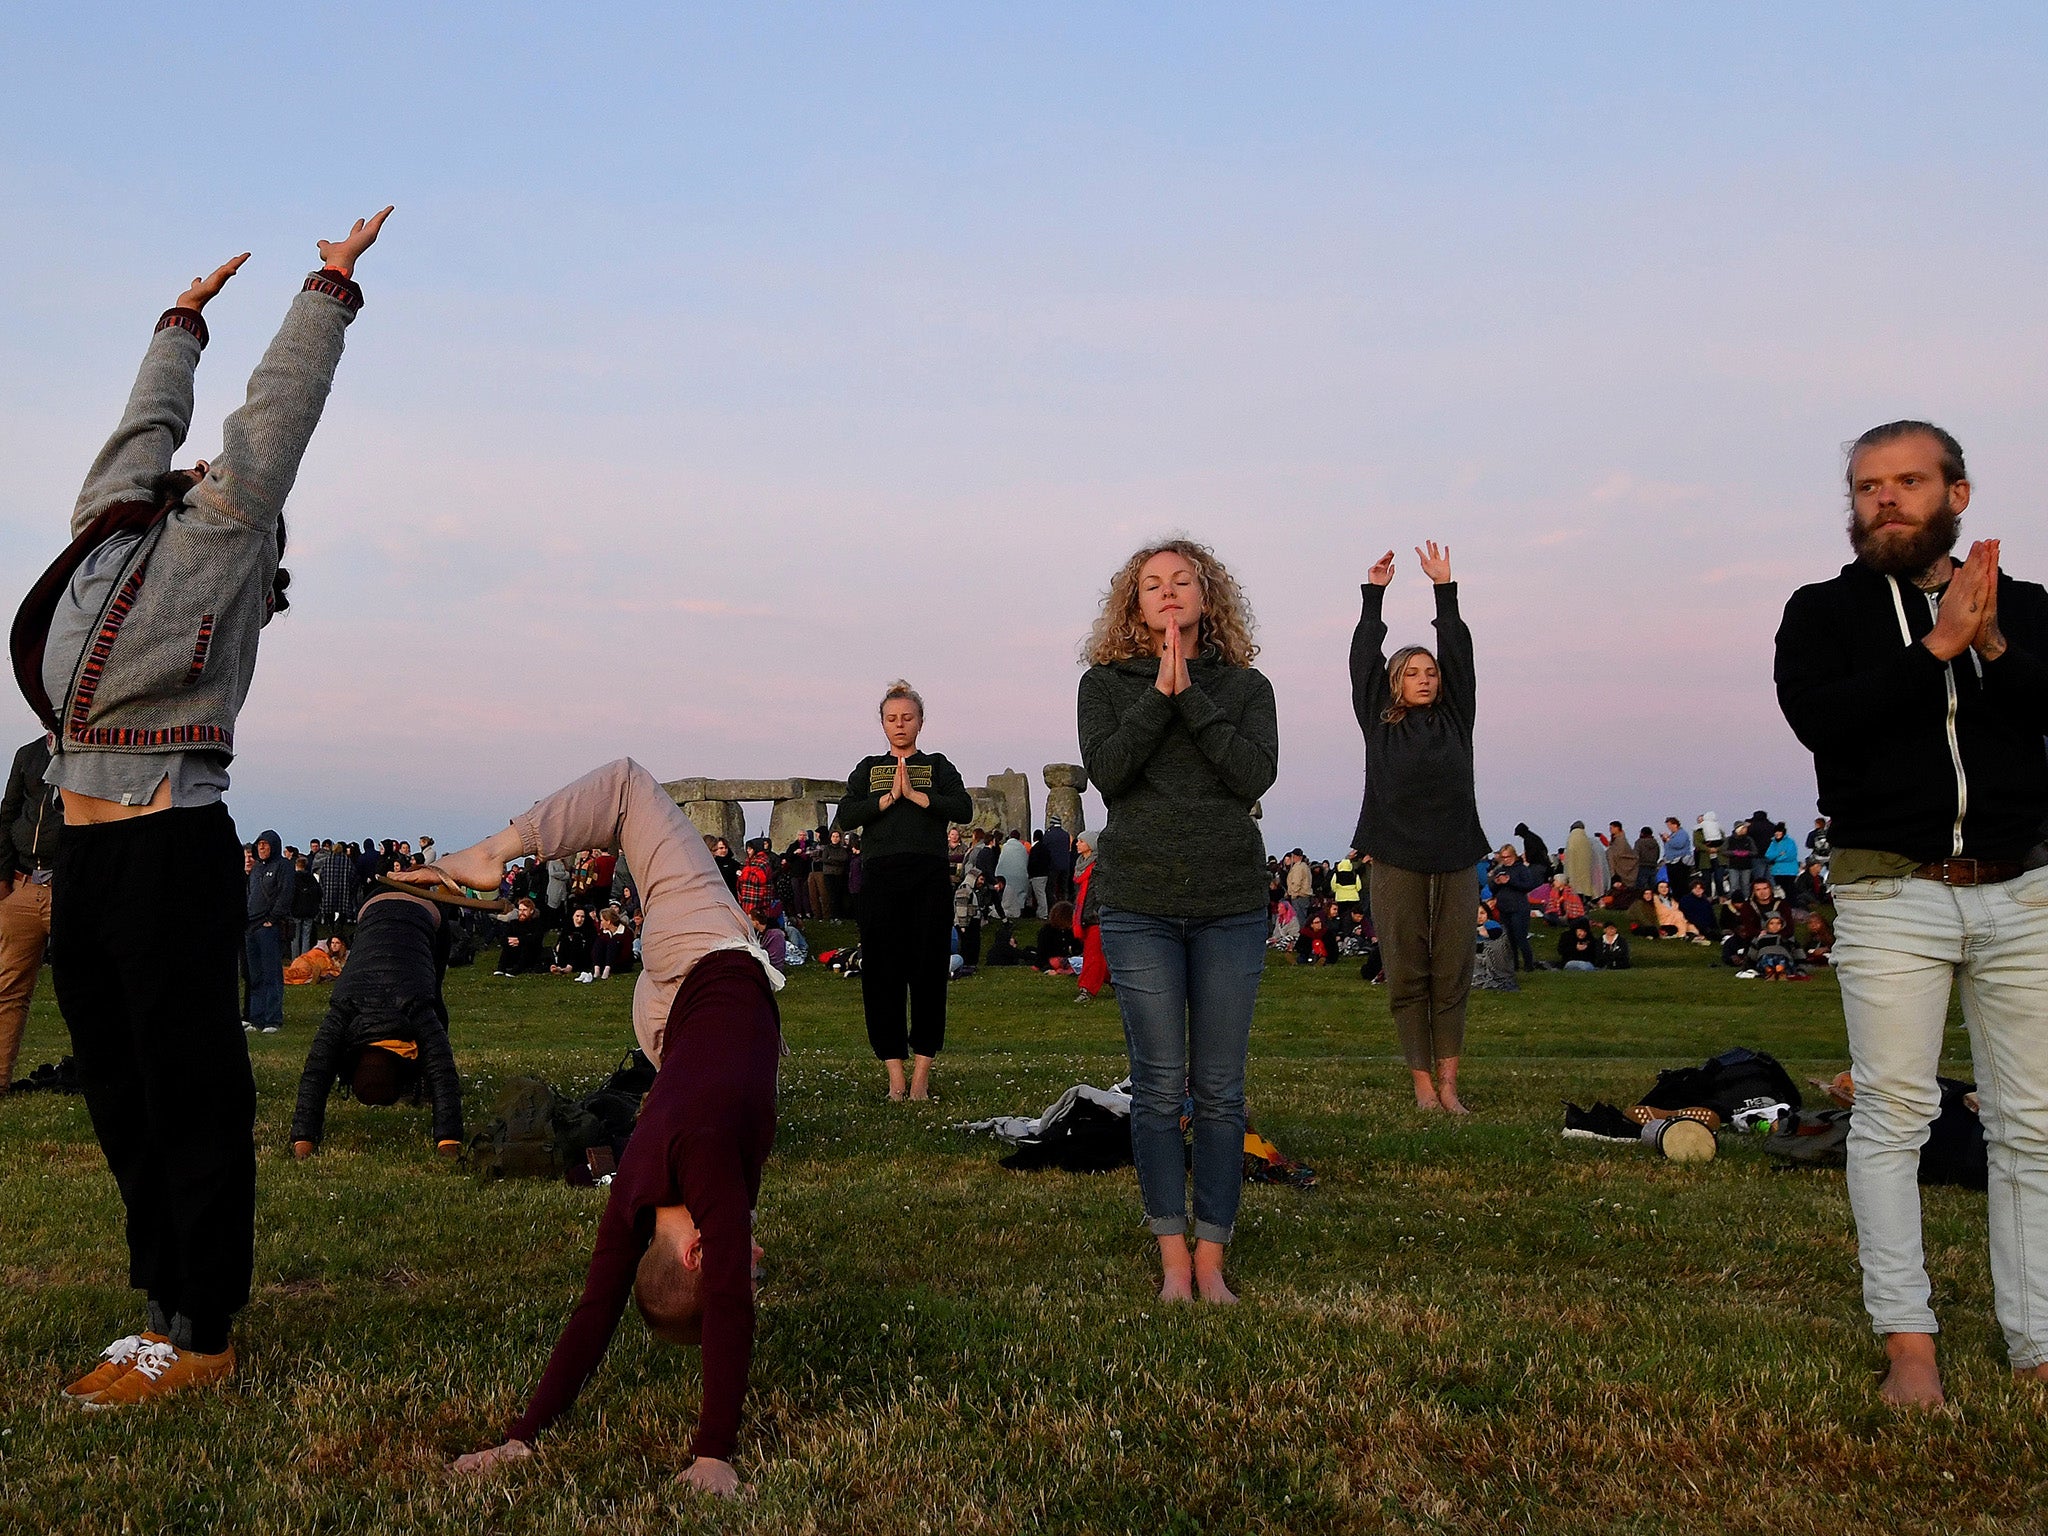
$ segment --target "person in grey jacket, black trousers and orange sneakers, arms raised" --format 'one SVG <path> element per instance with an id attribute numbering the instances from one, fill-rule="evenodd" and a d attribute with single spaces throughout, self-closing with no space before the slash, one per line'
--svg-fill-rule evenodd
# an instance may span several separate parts
<path id="1" fill-rule="evenodd" d="M 63 793 L 51 877 L 57 1006 L 92 1130 L 127 1208 L 147 1323 L 66 1386 L 143 1403 L 233 1372 L 256 1229 L 256 1083 L 238 1006 L 242 840 L 221 805 L 256 645 L 283 610 L 285 498 L 362 305 L 352 272 L 391 209 L 319 242 L 285 324 L 221 428 L 172 469 L 193 420 L 201 311 L 246 256 L 164 311 L 121 426 L 72 510 L 72 543 L 12 629 L 14 680 Z"/>

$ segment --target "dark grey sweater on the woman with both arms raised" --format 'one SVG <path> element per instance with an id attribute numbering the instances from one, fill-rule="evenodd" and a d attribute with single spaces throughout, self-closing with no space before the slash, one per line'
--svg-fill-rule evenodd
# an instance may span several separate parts
<path id="1" fill-rule="evenodd" d="M 1442 684 L 1436 702 L 1399 721 L 1380 719 L 1386 686 L 1386 588 L 1364 584 L 1364 612 L 1352 635 L 1352 713 L 1366 733 L 1366 799 L 1352 846 L 1417 874 L 1448 874 L 1487 856 L 1473 786 L 1477 713 L 1473 633 L 1458 616 L 1458 584 L 1436 588 L 1436 645 Z"/>

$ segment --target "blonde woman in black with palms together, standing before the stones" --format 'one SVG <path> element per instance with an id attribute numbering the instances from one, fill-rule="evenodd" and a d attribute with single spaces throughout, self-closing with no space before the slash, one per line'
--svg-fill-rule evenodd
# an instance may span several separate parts
<path id="1" fill-rule="evenodd" d="M 952 874 L 946 829 L 975 819 L 961 770 L 918 752 L 924 698 L 901 678 L 883 694 L 889 752 L 846 776 L 836 831 L 860 827 L 860 1006 L 868 1044 L 889 1069 L 889 1098 L 932 1098 L 932 1057 L 946 1042 L 946 975 L 952 958 Z M 909 995 L 909 1028 L 903 999 Z"/>

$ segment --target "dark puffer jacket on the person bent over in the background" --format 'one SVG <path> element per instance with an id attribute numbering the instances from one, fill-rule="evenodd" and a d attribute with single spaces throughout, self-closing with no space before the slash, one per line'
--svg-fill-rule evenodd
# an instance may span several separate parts
<path id="1" fill-rule="evenodd" d="M 420 1081 L 434 1102 L 434 1141 L 463 1139 L 463 1079 L 440 999 L 451 934 L 446 918 L 436 918 L 416 901 L 367 905 L 348 965 L 328 997 L 328 1016 L 305 1053 L 291 1114 L 293 1141 L 319 1143 L 334 1079 L 350 1077 L 356 1059 L 381 1040 L 418 1049 Z"/>

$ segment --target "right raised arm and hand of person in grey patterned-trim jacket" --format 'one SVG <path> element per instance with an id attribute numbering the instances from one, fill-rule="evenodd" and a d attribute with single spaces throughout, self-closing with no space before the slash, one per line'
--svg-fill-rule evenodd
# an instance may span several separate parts
<path id="1" fill-rule="evenodd" d="M 356 219 L 346 240 L 319 242 L 326 264 L 305 279 L 250 375 L 248 397 L 221 424 L 221 457 L 188 498 L 193 516 L 240 522 L 258 532 L 276 528 L 299 477 L 299 459 L 328 403 L 334 369 L 342 360 L 342 334 L 362 307 L 354 264 L 389 213 Z"/>

